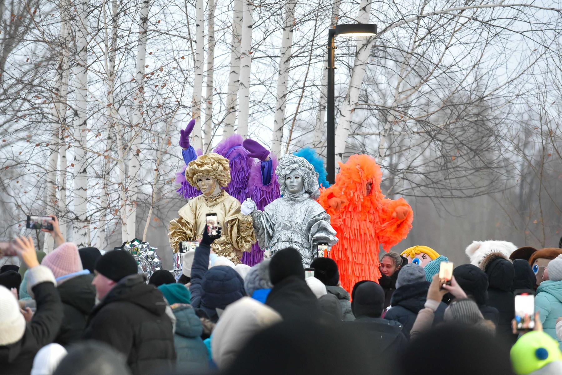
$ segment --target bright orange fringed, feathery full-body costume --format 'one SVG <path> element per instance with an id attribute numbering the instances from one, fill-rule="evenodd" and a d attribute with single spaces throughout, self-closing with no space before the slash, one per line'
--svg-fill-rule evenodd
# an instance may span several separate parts
<path id="1" fill-rule="evenodd" d="M 378 282 L 379 245 L 388 251 L 405 239 L 412 227 L 414 212 L 404 198 L 385 198 L 380 190 L 382 172 L 368 155 L 353 155 L 343 164 L 336 184 L 324 189 L 318 203 L 330 214 L 338 243 L 330 251 L 336 260 L 339 280 L 345 290 L 361 280 Z M 371 182 L 371 191 L 367 185 Z M 334 202 L 339 203 L 336 205 Z M 339 205 L 341 204 L 341 207 Z M 403 207 L 403 208 L 398 208 Z M 397 218 L 396 208 L 403 219 Z"/>

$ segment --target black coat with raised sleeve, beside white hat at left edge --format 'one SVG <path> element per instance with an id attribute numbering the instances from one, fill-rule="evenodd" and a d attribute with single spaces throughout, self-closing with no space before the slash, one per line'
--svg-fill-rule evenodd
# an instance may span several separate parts
<path id="1" fill-rule="evenodd" d="M 55 285 L 42 282 L 33 288 L 37 310 L 26 324 L 24 336 L 11 345 L 0 346 L 2 375 L 29 375 L 33 358 L 43 346 L 51 344 L 62 321 L 62 304 Z"/>

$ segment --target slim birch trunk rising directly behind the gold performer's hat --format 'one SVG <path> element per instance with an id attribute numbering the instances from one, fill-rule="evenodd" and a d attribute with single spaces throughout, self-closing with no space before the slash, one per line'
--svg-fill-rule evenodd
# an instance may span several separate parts
<path id="1" fill-rule="evenodd" d="M 209 0 L 209 24 L 207 25 L 207 92 L 205 103 L 205 148 L 209 152 L 212 147 L 212 99 L 214 88 L 213 71 L 215 69 L 215 0 Z"/>

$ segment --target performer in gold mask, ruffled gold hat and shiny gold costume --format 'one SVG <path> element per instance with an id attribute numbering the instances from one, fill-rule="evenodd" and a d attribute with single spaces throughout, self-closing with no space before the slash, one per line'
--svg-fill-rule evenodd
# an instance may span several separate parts
<path id="1" fill-rule="evenodd" d="M 256 243 L 252 217 L 240 212 L 240 202 L 223 190 L 230 182 L 228 159 L 216 153 L 197 157 L 185 169 L 185 179 L 201 191 L 178 211 L 179 217 L 170 221 L 170 246 L 175 253 L 182 241 L 201 239 L 207 225 L 207 213 L 216 213 L 222 235 L 211 250 L 234 264 L 240 263 L 244 251 L 251 251 Z"/>

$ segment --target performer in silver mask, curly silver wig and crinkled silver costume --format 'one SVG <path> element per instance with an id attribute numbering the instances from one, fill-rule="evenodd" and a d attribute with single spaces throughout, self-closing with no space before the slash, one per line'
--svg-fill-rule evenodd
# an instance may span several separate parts
<path id="1" fill-rule="evenodd" d="M 301 253 L 302 264 L 307 267 L 316 258 L 319 243 L 332 246 L 338 241 L 329 214 L 315 200 L 320 196 L 318 173 L 305 158 L 293 154 L 279 159 L 275 173 L 283 196 L 266 205 L 264 211 L 247 199 L 241 211 L 251 213 L 262 249 L 270 248 L 273 255 L 292 247 Z"/>

